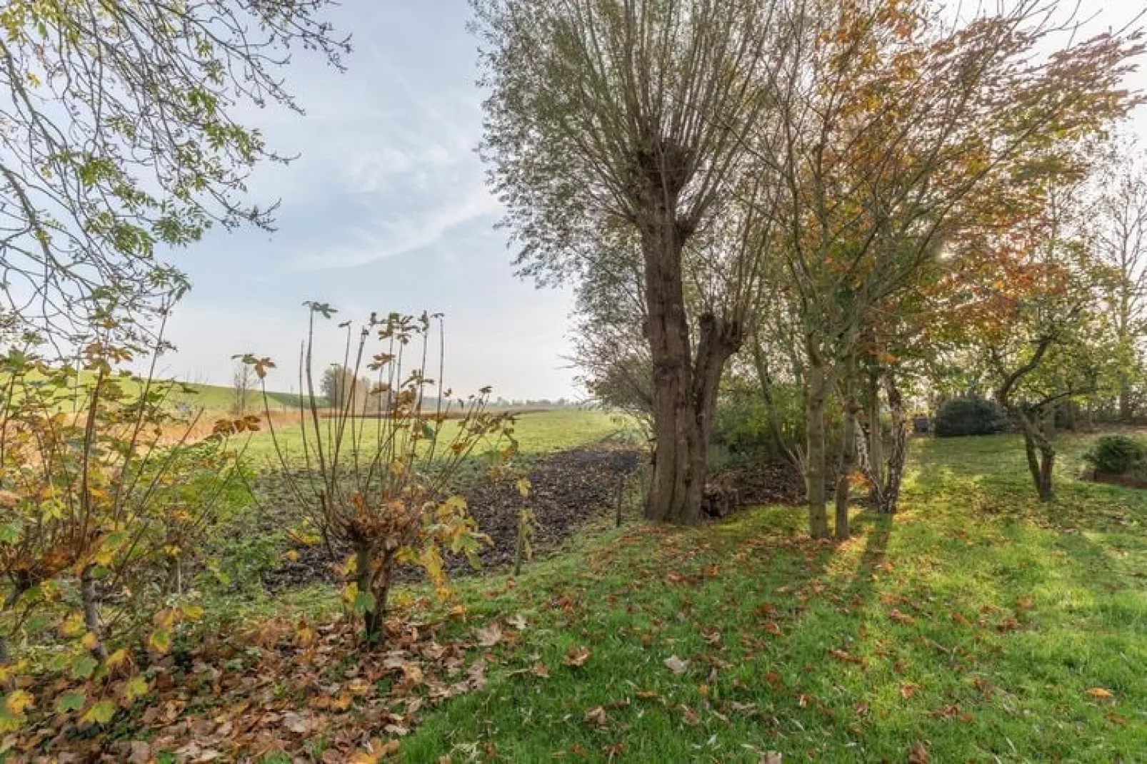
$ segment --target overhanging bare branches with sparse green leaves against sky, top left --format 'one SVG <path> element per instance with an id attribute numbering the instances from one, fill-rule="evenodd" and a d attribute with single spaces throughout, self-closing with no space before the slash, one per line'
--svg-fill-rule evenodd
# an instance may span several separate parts
<path id="1" fill-rule="evenodd" d="M 236 110 L 298 108 L 281 79 L 292 48 L 341 65 L 330 5 L 2 3 L 2 310 L 57 339 L 128 326 L 186 286 L 158 247 L 214 223 L 270 226 L 273 205 L 251 204 L 244 184 L 283 157 Z"/>

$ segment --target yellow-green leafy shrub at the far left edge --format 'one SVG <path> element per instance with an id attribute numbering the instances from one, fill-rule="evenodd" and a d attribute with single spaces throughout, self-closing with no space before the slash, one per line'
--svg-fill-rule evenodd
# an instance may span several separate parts
<path id="1" fill-rule="evenodd" d="M 229 435 L 257 420 L 192 442 L 197 417 L 171 412 L 174 384 L 122 369 L 128 349 L 93 341 L 80 369 L 38 349 L 26 338 L 0 355 L 0 663 L 11 686 L 60 672 L 56 711 L 104 723 L 148 692 L 139 638 L 165 653 L 200 617 L 182 572 L 247 501 Z M 0 703 L 0 732 L 29 701 Z"/>

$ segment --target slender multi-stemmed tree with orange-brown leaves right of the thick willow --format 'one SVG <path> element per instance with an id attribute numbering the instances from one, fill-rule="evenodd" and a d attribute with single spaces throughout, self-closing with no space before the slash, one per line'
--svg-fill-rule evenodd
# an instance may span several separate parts
<path id="1" fill-rule="evenodd" d="M 1061 147 L 1074 151 L 1136 102 L 1121 87 L 1139 34 L 1043 55 L 1064 31 L 1058 5 L 1017 0 L 954 22 L 924 0 L 790 6 L 787 26 L 802 42 L 781 78 L 783 140 L 762 165 L 786 191 L 779 251 L 804 331 L 813 536 L 828 535 L 824 418 L 834 392 L 845 415 L 836 533 L 849 533 L 859 372 L 882 310 L 962 228 L 993 223 L 973 218 L 986 207 L 970 200 L 1001 187 L 1023 195 Z M 892 368 L 877 364 L 895 399 Z"/>

